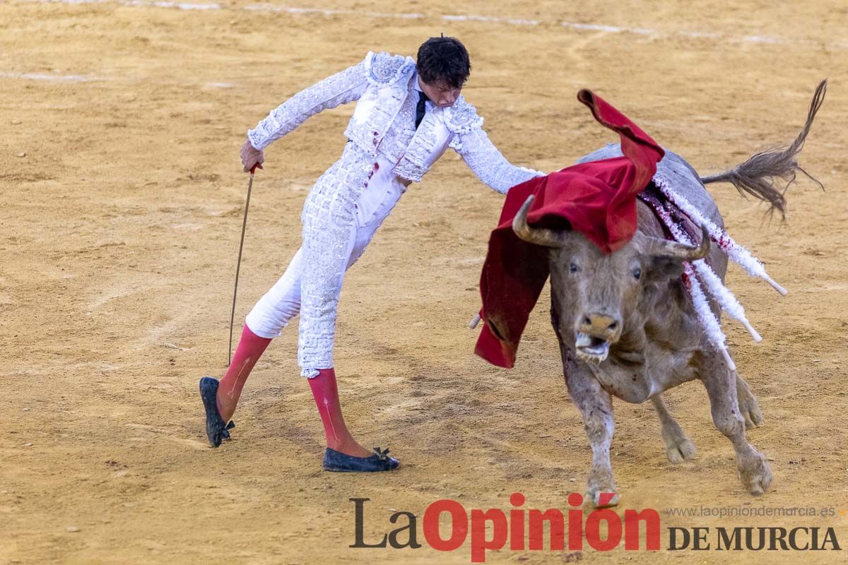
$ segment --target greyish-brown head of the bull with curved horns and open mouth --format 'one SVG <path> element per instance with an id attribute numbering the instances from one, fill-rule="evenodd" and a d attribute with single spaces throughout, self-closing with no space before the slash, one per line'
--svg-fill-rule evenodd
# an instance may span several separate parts
<path id="1" fill-rule="evenodd" d="M 585 235 L 571 230 L 548 230 L 527 225 L 528 197 L 512 222 L 522 240 L 551 248 L 550 285 L 561 318 L 557 333 L 586 362 L 601 363 L 622 335 L 636 345 L 644 342 L 646 296 L 668 300 L 661 292 L 683 274 L 683 262 L 705 258 L 710 237 L 701 228 L 699 246 L 649 237 L 636 232 L 628 244 L 605 254 Z M 660 292 L 657 292 L 660 291 Z M 623 345 L 623 344 L 622 344 Z"/>

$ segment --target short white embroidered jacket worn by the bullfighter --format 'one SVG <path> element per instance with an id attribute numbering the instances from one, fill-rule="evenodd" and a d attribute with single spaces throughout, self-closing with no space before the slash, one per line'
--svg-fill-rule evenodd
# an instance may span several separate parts
<path id="1" fill-rule="evenodd" d="M 412 58 L 369 52 L 360 64 L 283 102 L 248 132 L 248 138 L 263 149 L 321 110 L 358 100 L 344 135 L 371 157 L 388 159 L 393 173 L 403 179 L 420 181 L 447 147 L 453 147 L 480 180 L 502 193 L 543 174 L 507 161 L 488 139 L 483 118 L 462 96 L 449 108 L 427 112 L 416 130 L 417 100 L 410 97 L 415 77 Z"/>

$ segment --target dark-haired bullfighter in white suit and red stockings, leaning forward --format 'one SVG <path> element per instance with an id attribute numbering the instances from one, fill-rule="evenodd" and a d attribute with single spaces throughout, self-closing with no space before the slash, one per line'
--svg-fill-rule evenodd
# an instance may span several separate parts
<path id="1" fill-rule="evenodd" d="M 483 119 L 460 94 L 470 72 L 466 47 L 453 37 L 431 37 L 418 49 L 417 60 L 368 53 L 359 64 L 298 92 L 248 131 L 241 151 L 245 171 L 263 163 L 265 147 L 310 116 L 358 101 L 344 132 L 348 142 L 341 158 L 315 182 L 304 203 L 300 249 L 248 313 L 224 377 L 200 380 L 212 446 L 229 438 L 233 424 L 226 423 L 248 374 L 299 313 L 298 364 L 324 424 L 323 467 L 359 472 L 398 467 L 388 450 L 361 446 L 344 424 L 332 358 L 344 273 L 410 183 L 420 181 L 448 147 L 484 184 L 503 194 L 543 174 L 511 164 L 494 147 Z"/>

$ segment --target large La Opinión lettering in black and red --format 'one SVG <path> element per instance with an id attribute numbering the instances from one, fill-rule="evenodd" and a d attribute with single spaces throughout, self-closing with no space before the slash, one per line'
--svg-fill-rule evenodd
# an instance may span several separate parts
<path id="1" fill-rule="evenodd" d="M 611 493 L 602 493 L 600 503 L 611 501 Z M 421 547 L 418 537 L 418 517 L 412 512 L 393 512 L 388 521 L 396 528 L 382 535 L 382 539 L 365 540 L 365 502 L 370 498 L 351 498 L 355 505 L 355 542 L 349 547 L 393 547 L 394 549 L 418 549 Z M 469 536 L 471 537 L 471 562 L 486 561 L 486 551 L 503 549 L 531 551 L 543 550 L 547 541 L 550 551 L 566 549 L 566 529 L 568 550 L 583 549 L 583 540 L 597 551 L 611 551 L 624 539 L 624 549 L 636 551 L 639 546 L 640 524 L 644 523 L 644 549 L 660 549 L 660 514 L 653 509 L 642 511 L 625 510 L 624 520 L 617 512 L 609 508 L 595 509 L 583 521 L 583 496 L 572 492 L 567 498 L 572 507 L 563 514 L 556 508 L 548 510 L 524 509 L 526 498 L 516 492 L 510 496 L 513 506 L 508 512 L 499 508 L 466 510 L 459 502 L 442 499 L 432 502 L 421 518 L 421 532 L 428 546 L 438 551 L 455 551 Z M 449 535 L 443 536 L 439 529 L 442 516 L 449 518 Z M 566 519 L 567 515 L 567 519 Z M 601 538 L 601 523 L 606 524 L 605 539 Z M 548 538 L 545 540 L 545 526 Z"/>

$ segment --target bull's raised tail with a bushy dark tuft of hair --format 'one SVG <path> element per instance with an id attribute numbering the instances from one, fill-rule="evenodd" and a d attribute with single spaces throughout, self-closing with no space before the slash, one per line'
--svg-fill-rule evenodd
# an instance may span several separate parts
<path id="1" fill-rule="evenodd" d="M 771 207 L 768 208 L 768 213 L 773 213 L 774 210 L 777 210 L 780 213 L 781 219 L 786 214 L 784 192 L 789 188 L 789 185 L 795 182 L 796 171 L 806 174 L 806 176 L 815 181 L 824 190 L 821 182 L 814 179 L 806 170 L 801 169 L 801 165 L 798 164 L 795 157 L 804 147 L 806 135 L 810 132 L 812 120 L 816 117 L 818 108 L 822 107 L 824 93 L 827 89 L 828 80 L 822 80 L 816 88 L 816 93 L 812 96 L 810 109 L 806 114 L 806 124 L 801 130 L 801 133 L 795 137 L 792 145 L 756 153 L 756 155 L 751 156 L 745 163 L 736 165 L 733 169 L 724 171 L 723 173 L 703 177 L 701 182 L 705 185 L 711 182 L 729 182 L 736 187 L 736 190 L 742 196 L 745 197 L 747 194 L 750 194 L 763 202 L 771 204 Z M 782 179 L 786 183 L 786 186 L 782 190 L 775 186 L 775 180 L 777 179 Z"/>

